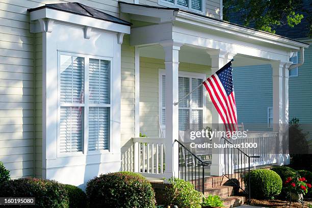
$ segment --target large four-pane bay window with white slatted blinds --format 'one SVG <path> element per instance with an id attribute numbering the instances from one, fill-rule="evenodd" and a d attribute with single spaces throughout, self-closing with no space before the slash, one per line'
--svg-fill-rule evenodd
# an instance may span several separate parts
<path id="1" fill-rule="evenodd" d="M 59 152 L 109 149 L 110 65 L 59 53 Z"/>

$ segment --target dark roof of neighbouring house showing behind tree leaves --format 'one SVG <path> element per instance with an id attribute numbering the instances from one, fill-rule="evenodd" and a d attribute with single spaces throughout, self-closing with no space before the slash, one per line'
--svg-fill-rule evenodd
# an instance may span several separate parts
<path id="1" fill-rule="evenodd" d="M 303 0 L 303 9 L 300 11 L 303 14 L 301 22 L 294 26 L 294 28 L 288 25 L 282 25 L 281 27 L 275 28 L 276 34 L 291 39 L 307 38 L 309 33 L 310 22 L 308 16 L 312 13 L 312 1 Z M 229 21 L 236 24 L 243 24 L 244 21 L 241 18 L 242 13 L 232 12 L 229 14 Z M 250 24 L 253 27 L 253 24 Z"/>

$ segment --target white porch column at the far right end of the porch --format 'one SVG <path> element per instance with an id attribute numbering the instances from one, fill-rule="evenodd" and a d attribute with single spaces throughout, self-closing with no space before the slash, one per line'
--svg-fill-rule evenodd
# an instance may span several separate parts
<path id="1" fill-rule="evenodd" d="M 277 164 L 287 165 L 290 163 L 289 155 L 283 154 L 285 141 L 288 140 L 288 81 L 289 63 L 274 62 L 273 70 L 273 131 L 278 133 L 277 145 Z"/>

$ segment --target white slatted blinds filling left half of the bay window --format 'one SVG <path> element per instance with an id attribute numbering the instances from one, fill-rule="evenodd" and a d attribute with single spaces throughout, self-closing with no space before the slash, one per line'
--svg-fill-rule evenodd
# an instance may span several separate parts
<path id="1" fill-rule="evenodd" d="M 60 101 L 59 151 L 82 151 L 84 108 L 75 105 L 84 103 L 84 58 L 60 55 Z"/>

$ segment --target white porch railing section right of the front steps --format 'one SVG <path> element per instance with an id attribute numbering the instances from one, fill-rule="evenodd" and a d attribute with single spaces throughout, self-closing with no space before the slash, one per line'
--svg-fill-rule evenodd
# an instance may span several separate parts
<path id="1" fill-rule="evenodd" d="M 231 140 L 233 144 L 250 143 L 257 144 L 256 148 L 240 148 L 249 156 L 257 155 L 260 158 L 251 158 L 250 166 L 261 166 L 277 163 L 276 155 L 276 145 L 277 145 L 277 135 L 276 132 L 249 132 L 247 138 L 238 138 L 236 140 Z M 239 164 L 240 158 L 233 158 L 233 164 Z M 247 164 L 245 164 L 247 165 Z M 239 167 L 235 166 L 234 169 Z"/>

